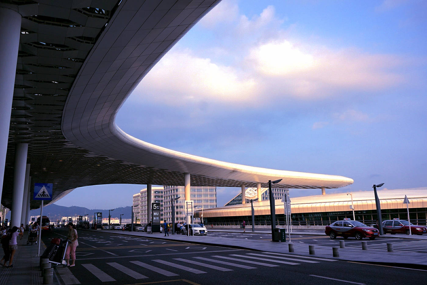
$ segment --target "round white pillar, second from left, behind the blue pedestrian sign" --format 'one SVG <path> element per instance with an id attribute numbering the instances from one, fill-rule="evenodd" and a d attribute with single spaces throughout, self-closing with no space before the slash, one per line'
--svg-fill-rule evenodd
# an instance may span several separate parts
<path id="1" fill-rule="evenodd" d="M 22 198 L 24 195 L 26 158 L 28 144 L 16 144 L 15 146 L 15 173 L 13 178 L 12 214 L 10 219 L 12 227 L 20 226 L 22 213 Z"/>

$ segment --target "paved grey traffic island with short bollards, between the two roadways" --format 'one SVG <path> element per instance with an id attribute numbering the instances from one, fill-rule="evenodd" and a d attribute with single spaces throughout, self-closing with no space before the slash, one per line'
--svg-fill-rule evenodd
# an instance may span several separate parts
<path id="1" fill-rule="evenodd" d="M 209 230 L 209 229 L 208 229 Z M 93 230 L 96 231 L 96 230 Z M 99 230 L 98 230 L 99 231 Z M 233 233 L 242 233 L 241 230 L 209 230 L 209 231 L 220 231 L 220 232 L 233 232 Z M 292 242 L 294 245 L 294 253 L 289 252 L 289 242 L 271 242 L 271 240 L 265 239 L 231 239 L 226 237 L 218 237 L 214 236 L 186 236 L 186 235 L 172 235 L 171 232 L 169 236 L 164 236 L 163 233 L 153 233 L 147 234 L 143 232 L 129 232 L 129 231 L 117 231 L 117 230 L 102 230 L 102 232 L 127 235 L 127 236 L 141 236 L 141 237 L 149 237 L 154 239 L 164 239 L 164 240 L 174 240 L 179 242 L 192 242 L 199 243 L 204 245 L 215 245 L 215 246 L 226 246 L 231 248 L 242 248 L 242 249 L 250 249 L 250 250 L 260 250 L 260 251 L 268 251 L 274 253 L 282 253 L 282 254 L 295 254 L 301 256 L 313 256 L 313 257 L 324 257 L 329 259 L 339 259 L 345 261 L 353 261 L 353 262 L 368 262 L 375 264 L 383 264 L 383 265 L 393 265 L 393 266 L 402 266 L 408 268 L 417 268 L 427 270 L 427 257 L 425 253 L 407 253 L 403 251 L 393 251 L 388 252 L 385 250 L 362 250 L 361 242 L 355 241 L 354 239 L 345 240 L 346 243 L 351 243 L 351 245 L 360 245 L 360 249 L 353 248 L 340 248 L 339 249 L 339 257 L 333 257 L 332 247 L 331 246 L 323 246 L 323 245 L 314 245 L 315 254 L 310 255 L 308 250 L 308 245 Z M 246 231 L 248 233 L 248 231 Z M 252 232 L 251 232 L 252 233 Z M 266 231 L 255 231 L 255 233 L 263 233 L 266 234 Z M 308 233 L 302 232 L 293 232 L 293 235 L 307 235 Z M 313 233 L 310 233 L 313 235 Z M 320 233 L 319 233 L 320 234 Z M 325 233 L 323 232 L 323 235 Z M 288 236 L 287 236 L 288 238 Z M 427 241 L 427 236 L 406 236 L 406 235 L 385 235 L 380 237 L 380 239 L 389 239 L 389 238 L 407 238 L 407 239 L 416 239 L 420 242 Z M 291 235 L 292 239 L 292 235 Z M 344 240 L 344 239 L 342 239 Z M 368 241 L 368 239 L 364 239 L 364 241 Z M 390 242 L 390 241 L 384 241 Z M 338 246 L 338 245 L 337 245 Z M 424 245 L 420 245 L 420 247 L 424 247 Z"/>

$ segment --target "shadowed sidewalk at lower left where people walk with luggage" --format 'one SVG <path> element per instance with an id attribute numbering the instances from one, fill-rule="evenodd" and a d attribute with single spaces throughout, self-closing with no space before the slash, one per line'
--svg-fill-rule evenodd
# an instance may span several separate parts
<path id="1" fill-rule="evenodd" d="M 40 258 L 37 257 L 38 244 L 26 245 L 28 232 L 24 233 L 22 239 L 17 239 L 18 250 L 13 258 L 13 268 L 5 268 L 0 265 L 0 285 L 39 285 L 43 283 L 41 271 L 39 268 Z M 43 253 L 46 246 L 41 242 L 40 254 Z M 3 250 L 1 256 L 3 257 Z M 58 284 L 55 275 L 53 284 Z"/>

